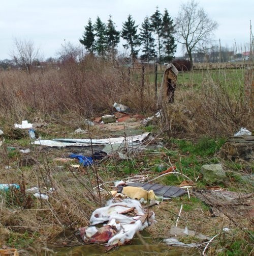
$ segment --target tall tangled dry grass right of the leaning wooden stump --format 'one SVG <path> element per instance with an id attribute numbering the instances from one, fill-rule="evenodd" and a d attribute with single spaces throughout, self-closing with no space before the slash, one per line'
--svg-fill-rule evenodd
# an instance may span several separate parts
<path id="1" fill-rule="evenodd" d="M 174 104 L 163 104 L 162 126 L 170 136 L 231 136 L 240 127 L 252 129 L 252 103 L 245 97 L 243 79 L 235 75 L 232 81 L 227 70 L 219 72 L 223 80 L 208 71 L 201 84 L 178 87 Z"/>

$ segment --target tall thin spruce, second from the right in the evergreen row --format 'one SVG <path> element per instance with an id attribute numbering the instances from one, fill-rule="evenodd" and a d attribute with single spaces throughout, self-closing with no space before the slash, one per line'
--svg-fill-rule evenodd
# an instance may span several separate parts
<path id="1" fill-rule="evenodd" d="M 163 22 L 162 22 L 162 14 L 160 11 L 158 11 L 158 7 L 156 7 L 155 13 L 151 16 L 151 25 L 152 28 L 155 30 L 155 34 L 157 36 L 157 41 L 158 41 L 158 54 L 159 54 L 159 62 L 160 62 L 160 67 L 162 70 L 162 43 L 161 43 L 161 37 L 162 37 L 162 30 L 163 30 Z"/>

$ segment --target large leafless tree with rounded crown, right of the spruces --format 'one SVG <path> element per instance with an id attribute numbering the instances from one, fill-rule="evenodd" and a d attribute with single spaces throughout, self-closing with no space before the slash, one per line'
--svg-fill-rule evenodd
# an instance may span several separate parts
<path id="1" fill-rule="evenodd" d="M 193 53 L 204 50 L 211 43 L 211 36 L 217 28 L 218 23 L 208 18 L 204 9 L 199 8 L 194 0 L 181 5 L 176 18 L 176 40 L 186 48 L 191 68 Z"/>

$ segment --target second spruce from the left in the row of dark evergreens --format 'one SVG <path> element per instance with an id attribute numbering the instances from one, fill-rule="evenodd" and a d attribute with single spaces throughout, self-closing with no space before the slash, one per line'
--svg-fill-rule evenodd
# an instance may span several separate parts
<path id="1" fill-rule="evenodd" d="M 107 49 L 106 38 L 106 24 L 102 22 L 99 16 L 94 24 L 94 31 L 96 32 L 95 49 L 99 56 L 104 57 Z"/>

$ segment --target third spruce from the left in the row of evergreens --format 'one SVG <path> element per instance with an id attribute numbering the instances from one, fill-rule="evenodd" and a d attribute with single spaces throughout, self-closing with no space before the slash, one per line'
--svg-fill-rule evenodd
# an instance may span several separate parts
<path id="1" fill-rule="evenodd" d="M 108 45 L 108 52 L 114 57 L 116 53 L 117 44 L 120 41 L 120 32 L 115 29 L 115 23 L 112 21 L 111 15 L 107 23 L 106 40 Z"/>

